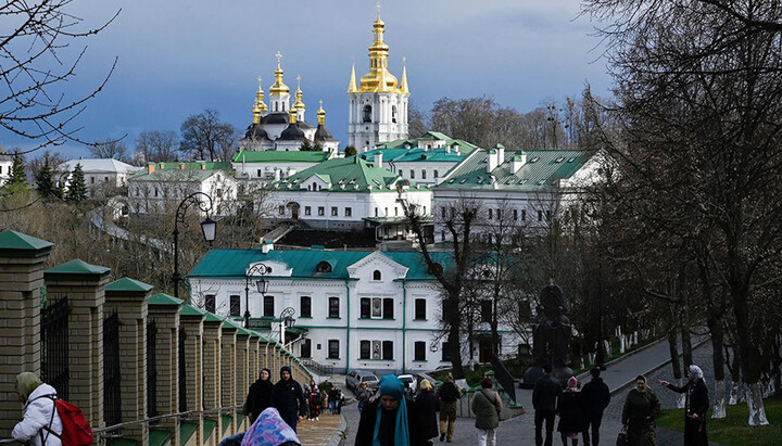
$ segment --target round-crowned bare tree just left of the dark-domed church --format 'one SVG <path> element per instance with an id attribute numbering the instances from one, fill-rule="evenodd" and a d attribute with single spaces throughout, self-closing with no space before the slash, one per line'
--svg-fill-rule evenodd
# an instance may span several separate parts
<path id="1" fill-rule="evenodd" d="M 198 160 L 230 161 L 236 137 L 234 126 L 220 122 L 216 110 L 206 109 L 182 123 L 179 150 Z"/>

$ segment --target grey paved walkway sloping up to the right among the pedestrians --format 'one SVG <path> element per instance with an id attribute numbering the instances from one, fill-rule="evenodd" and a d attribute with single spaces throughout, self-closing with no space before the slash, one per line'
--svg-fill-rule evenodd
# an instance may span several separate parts
<path id="1" fill-rule="evenodd" d="M 694 360 L 702 365 L 706 373 L 707 382 L 714 381 L 714 371 L 710 370 L 710 343 L 702 344 L 694 352 Z M 676 407 L 677 396 L 673 392 L 667 391 L 657 384 L 658 379 L 671 381 L 672 372 L 669 366 L 669 351 L 667 341 L 663 340 L 651 344 L 638 352 L 611 361 L 607 365 L 603 372 L 603 378 L 608 388 L 611 391 L 611 404 L 606 409 L 601 428 L 601 444 L 613 445 L 616 442 L 616 435 L 621 429 L 621 408 L 625 403 L 627 392 L 632 387 L 635 377 L 645 374 L 651 387 L 660 398 L 663 408 Z M 668 367 L 666 367 L 668 366 Z M 709 377 L 710 375 L 710 377 Z M 584 383 L 589 380 L 589 374 L 579 377 Z M 344 377 L 335 375 L 331 382 L 342 386 L 345 396 L 352 396 L 353 393 L 344 388 Z M 534 411 L 532 410 L 532 391 L 525 388 L 516 390 L 517 402 L 520 403 L 526 412 L 519 417 L 506 420 L 500 423 L 497 429 L 499 445 L 534 445 Z M 342 409 L 342 416 L 345 418 L 348 431 L 342 445 L 353 445 L 355 442 L 355 432 L 358 425 L 358 410 L 355 403 L 349 404 Z M 321 418 L 323 420 L 323 418 Z M 555 432 L 555 445 L 560 444 L 558 433 Z M 439 442 L 434 442 L 436 444 Z M 456 420 L 456 429 L 452 445 L 475 445 L 477 443 L 475 420 L 469 418 L 459 418 Z M 581 444 L 581 442 L 579 442 Z M 682 434 L 657 429 L 657 444 L 663 446 L 679 446 L 683 444 Z M 445 445 L 445 443 L 443 443 Z M 714 446 L 719 446 L 712 444 Z"/>

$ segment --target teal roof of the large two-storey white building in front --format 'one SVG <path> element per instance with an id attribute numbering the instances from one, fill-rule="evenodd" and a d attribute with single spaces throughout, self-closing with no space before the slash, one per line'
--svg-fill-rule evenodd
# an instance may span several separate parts
<path id="1" fill-rule="evenodd" d="M 263 254 L 261 250 L 211 250 L 201 262 L 190 271 L 188 278 L 244 278 L 248 265 L 255 262 L 279 262 L 292 268 L 294 279 L 331 279 L 348 280 L 348 267 L 362 258 L 373 254 L 375 251 L 321 251 L 321 250 L 295 250 L 295 251 L 269 251 Z M 382 254 L 390 259 L 406 266 L 408 280 L 434 280 L 428 273 L 428 267 L 424 255 L 419 252 L 383 251 Z M 450 253 L 432 253 L 432 256 L 445 269 L 452 265 Z M 317 266 L 321 262 L 331 265 L 331 272 L 317 272 Z M 274 279 L 275 276 L 267 277 Z"/>

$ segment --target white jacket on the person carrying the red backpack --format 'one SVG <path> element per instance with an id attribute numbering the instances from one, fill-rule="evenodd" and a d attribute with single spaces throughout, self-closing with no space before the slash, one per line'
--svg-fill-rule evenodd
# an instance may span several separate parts
<path id="1" fill-rule="evenodd" d="M 60 438 L 45 429 L 48 428 L 58 435 L 62 434 L 62 421 L 54 408 L 54 400 L 45 395 L 56 396 L 56 391 L 49 384 L 36 387 L 27 397 L 24 418 L 16 423 L 11 436 L 22 443 L 31 441 L 37 446 L 62 446 Z"/>

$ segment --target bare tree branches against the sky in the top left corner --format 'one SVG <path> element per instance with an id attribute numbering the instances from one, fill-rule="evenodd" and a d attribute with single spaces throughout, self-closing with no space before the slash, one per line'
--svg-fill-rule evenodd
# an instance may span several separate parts
<path id="1" fill-rule="evenodd" d="M 85 26 L 73 13 L 77 0 L 5 1 L 0 5 L 3 27 L 0 31 L 0 127 L 37 142 L 34 149 L 65 141 L 83 143 L 74 119 L 94 98 L 116 65 L 91 91 L 70 94 L 66 84 L 87 47 L 70 47 L 105 29 L 119 14 L 97 26 Z M 54 68 L 52 68 L 54 67 Z M 67 91 L 68 93 L 64 93 Z"/>

